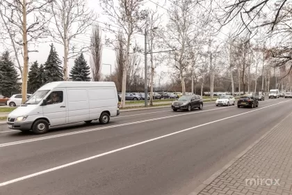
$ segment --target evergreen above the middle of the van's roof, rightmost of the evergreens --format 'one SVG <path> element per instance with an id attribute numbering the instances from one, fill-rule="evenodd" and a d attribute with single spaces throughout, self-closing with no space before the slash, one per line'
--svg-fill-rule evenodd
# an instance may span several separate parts
<path id="1" fill-rule="evenodd" d="M 70 71 L 72 81 L 90 81 L 90 67 L 84 59 L 83 53 L 75 59 L 74 66 Z"/>

